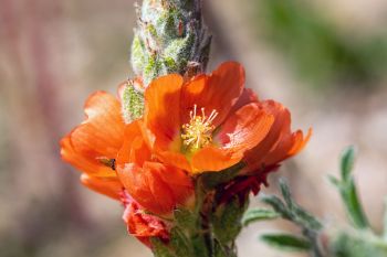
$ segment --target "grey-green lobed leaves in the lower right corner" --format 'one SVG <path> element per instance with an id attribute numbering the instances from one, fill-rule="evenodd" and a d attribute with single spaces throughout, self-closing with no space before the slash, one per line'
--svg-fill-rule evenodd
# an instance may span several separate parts
<path id="1" fill-rule="evenodd" d="M 302 236 L 284 233 L 261 236 L 264 243 L 282 250 L 308 251 L 312 257 L 386 257 L 387 233 L 378 235 L 372 229 L 357 194 L 353 176 L 355 153 L 354 147 L 346 148 L 341 157 L 341 178 L 330 176 L 342 196 L 351 226 L 330 227 L 321 223 L 294 201 L 283 179 L 280 180 L 283 200 L 261 194 L 262 202 L 273 210 L 250 210 L 244 214 L 243 224 L 281 217 L 302 228 Z"/>

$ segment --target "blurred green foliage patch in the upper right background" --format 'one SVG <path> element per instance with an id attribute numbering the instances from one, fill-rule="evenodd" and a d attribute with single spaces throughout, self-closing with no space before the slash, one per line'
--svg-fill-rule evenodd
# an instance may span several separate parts
<path id="1" fill-rule="evenodd" d="M 302 0 L 255 1 L 255 14 L 263 36 L 313 86 L 370 87 L 384 75 L 387 35 L 345 34 Z"/>

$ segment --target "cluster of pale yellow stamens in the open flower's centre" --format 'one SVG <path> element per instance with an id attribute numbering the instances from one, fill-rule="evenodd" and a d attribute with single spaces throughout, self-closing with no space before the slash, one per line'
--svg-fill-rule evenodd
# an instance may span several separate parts
<path id="1" fill-rule="evenodd" d="M 201 108 L 201 115 L 197 115 L 197 105 L 189 111 L 190 121 L 182 125 L 182 143 L 189 150 L 200 149 L 212 141 L 215 126 L 213 119 L 218 116 L 217 110 L 212 110 L 210 116 L 206 116 L 205 108 Z"/>

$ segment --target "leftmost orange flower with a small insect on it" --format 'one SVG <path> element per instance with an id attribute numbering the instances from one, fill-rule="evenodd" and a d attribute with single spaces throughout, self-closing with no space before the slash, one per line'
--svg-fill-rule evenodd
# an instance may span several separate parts
<path id="1" fill-rule="evenodd" d="M 114 96 L 96 92 L 84 109 L 86 120 L 61 140 L 62 159 L 84 172 L 81 182 L 87 188 L 119 200 L 123 185 L 111 165 L 124 138 L 121 104 Z"/>

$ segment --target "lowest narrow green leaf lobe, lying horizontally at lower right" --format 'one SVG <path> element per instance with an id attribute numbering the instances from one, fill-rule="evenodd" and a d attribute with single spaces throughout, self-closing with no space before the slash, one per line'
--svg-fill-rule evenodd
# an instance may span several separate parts
<path id="1" fill-rule="evenodd" d="M 302 237 L 289 234 L 265 234 L 261 240 L 281 249 L 305 251 L 311 249 L 311 243 Z"/>

